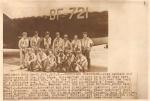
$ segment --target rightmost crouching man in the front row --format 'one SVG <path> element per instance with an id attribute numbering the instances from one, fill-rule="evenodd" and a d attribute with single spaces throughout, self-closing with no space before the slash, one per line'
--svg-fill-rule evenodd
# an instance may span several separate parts
<path id="1" fill-rule="evenodd" d="M 74 71 L 85 72 L 88 70 L 87 58 L 82 54 L 81 51 L 77 51 L 77 55 L 74 61 Z"/>

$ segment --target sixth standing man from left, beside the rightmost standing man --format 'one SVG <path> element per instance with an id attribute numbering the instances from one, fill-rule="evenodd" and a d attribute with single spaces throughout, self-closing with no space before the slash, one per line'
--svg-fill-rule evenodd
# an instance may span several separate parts
<path id="1" fill-rule="evenodd" d="M 74 35 L 74 39 L 72 40 L 72 51 L 75 55 L 77 50 L 81 51 L 81 41 L 78 39 L 78 35 Z"/>

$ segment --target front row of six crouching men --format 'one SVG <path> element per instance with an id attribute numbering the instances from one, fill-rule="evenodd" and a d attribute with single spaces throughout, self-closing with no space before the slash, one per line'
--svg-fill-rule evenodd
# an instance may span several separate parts
<path id="1" fill-rule="evenodd" d="M 75 56 L 70 50 L 66 54 L 60 50 L 55 56 L 52 50 L 46 54 L 44 49 L 39 48 L 36 53 L 33 48 L 28 48 L 25 50 L 23 65 L 29 71 L 85 72 L 88 70 L 87 59 L 81 51 L 77 51 Z"/>

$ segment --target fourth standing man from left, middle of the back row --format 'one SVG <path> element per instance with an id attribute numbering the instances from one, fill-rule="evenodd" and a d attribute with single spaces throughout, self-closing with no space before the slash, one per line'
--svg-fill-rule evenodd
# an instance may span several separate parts
<path id="1" fill-rule="evenodd" d="M 56 38 L 53 41 L 53 46 L 52 46 L 54 55 L 57 55 L 59 50 L 63 49 L 63 39 L 60 37 L 60 33 L 56 32 Z"/>

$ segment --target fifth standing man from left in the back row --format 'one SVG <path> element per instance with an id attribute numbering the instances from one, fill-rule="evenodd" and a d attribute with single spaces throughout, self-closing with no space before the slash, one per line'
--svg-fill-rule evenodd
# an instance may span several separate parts
<path id="1" fill-rule="evenodd" d="M 63 51 L 66 54 L 68 50 L 71 50 L 72 46 L 71 46 L 71 42 L 68 39 L 68 35 L 65 34 L 64 35 L 64 39 L 63 39 Z"/>

